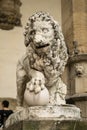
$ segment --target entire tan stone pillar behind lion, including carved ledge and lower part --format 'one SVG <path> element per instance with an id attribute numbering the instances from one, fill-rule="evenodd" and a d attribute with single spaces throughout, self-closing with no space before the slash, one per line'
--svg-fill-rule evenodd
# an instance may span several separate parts
<path id="1" fill-rule="evenodd" d="M 67 103 L 76 104 L 87 119 L 87 1 L 61 0 L 62 29 L 69 60 Z"/>

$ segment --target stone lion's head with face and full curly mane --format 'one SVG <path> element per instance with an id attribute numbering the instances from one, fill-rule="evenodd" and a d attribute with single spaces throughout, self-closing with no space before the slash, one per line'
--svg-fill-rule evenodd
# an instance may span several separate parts
<path id="1" fill-rule="evenodd" d="M 35 13 L 29 18 L 24 35 L 31 67 L 45 75 L 61 75 L 68 54 L 61 27 L 53 17 L 45 12 Z"/>

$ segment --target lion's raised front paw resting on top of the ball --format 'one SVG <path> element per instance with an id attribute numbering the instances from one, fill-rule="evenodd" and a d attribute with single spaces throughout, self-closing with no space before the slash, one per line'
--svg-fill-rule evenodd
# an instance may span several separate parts
<path id="1" fill-rule="evenodd" d="M 30 92 L 39 93 L 41 90 L 45 88 L 44 82 L 39 78 L 33 78 L 28 84 L 27 89 L 29 89 Z"/>

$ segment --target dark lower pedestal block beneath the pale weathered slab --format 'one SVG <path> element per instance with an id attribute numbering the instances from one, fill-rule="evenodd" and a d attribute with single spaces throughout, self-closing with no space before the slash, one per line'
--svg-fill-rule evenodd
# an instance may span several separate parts
<path id="1" fill-rule="evenodd" d="M 87 122 L 22 121 L 4 130 L 87 130 Z"/>

